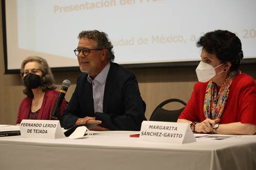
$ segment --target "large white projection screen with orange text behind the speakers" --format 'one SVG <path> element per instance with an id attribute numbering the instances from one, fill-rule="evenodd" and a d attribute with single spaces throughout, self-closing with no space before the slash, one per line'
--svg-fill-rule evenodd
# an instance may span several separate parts
<path id="1" fill-rule="evenodd" d="M 199 61 L 197 40 L 219 29 L 239 36 L 245 59 L 256 58 L 254 0 L 8 0 L 4 7 L 7 73 L 35 55 L 52 68 L 77 67 L 82 30 L 107 33 L 119 64 Z"/>

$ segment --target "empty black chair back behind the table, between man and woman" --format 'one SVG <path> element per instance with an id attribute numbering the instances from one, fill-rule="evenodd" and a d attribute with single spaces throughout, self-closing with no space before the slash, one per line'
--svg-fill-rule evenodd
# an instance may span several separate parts
<path id="1" fill-rule="evenodd" d="M 179 99 L 168 99 L 160 103 L 156 109 L 153 111 L 150 120 L 152 121 L 162 121 L 162 122 L 177 122 L 180 113 L 184 110 L 185 107 L 178 110 L 166 110 L 162 107 L 168 103 L 179 102 L 186 106 L 186 103 Z"/>

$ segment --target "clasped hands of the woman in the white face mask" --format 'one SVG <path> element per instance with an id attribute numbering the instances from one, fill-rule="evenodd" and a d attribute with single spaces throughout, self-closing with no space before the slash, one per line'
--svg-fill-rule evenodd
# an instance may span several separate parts
<path id="1" fill-rule="evenodd" d="M 207 118 L 203 122 L 196 124 L 195 131 L 198 133 L 210 133 L 214 130 L 212 127 L 219 123 L 220 120 L 219 118 L 214 120 Z"/>

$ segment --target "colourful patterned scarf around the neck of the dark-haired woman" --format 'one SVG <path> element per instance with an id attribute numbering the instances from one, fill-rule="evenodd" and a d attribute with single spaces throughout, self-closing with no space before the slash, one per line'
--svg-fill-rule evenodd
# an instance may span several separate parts
<path id="1" fill-rule="evenodd" d="M 227 102 L 230 85 L 233 79 L 241 74 L 240 70 L 231 71 L 219 92 L 217 92 L 217 84 L 209 81 L 204 97 L 204 115 L 206 118 L 220 118 Z"/>

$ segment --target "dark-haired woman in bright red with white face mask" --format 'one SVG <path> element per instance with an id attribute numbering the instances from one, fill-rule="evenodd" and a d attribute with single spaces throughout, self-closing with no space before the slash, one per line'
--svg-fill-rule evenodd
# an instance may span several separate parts
<path id="1" fill-rule="evenodd" d="M 256 133 L 256 83 L 239 70 L 243 58 L 240 39 L 229 31 L 206 33 L 191 99 L 178 122 L 193 132 L 218 134 Z"/>

